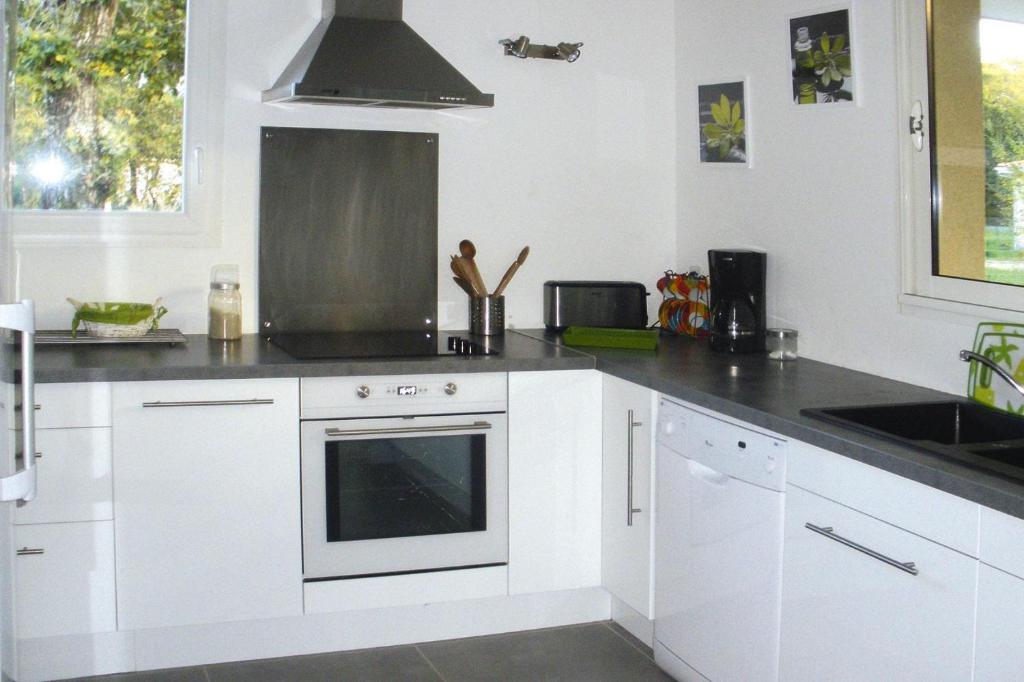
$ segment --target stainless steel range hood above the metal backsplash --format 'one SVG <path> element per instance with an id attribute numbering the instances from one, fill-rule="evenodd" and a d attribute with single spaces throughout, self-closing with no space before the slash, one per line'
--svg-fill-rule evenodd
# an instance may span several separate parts
<path id="1" fill-rule="evenodd" d="M 324 18 L 265 102 L 404 109 L 494 106 L 401 20 L 401 0 L 324 0 Z"/>

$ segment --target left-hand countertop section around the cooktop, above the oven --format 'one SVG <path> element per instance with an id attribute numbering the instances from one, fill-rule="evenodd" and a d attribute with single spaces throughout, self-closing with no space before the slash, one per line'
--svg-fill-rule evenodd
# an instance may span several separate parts
<path id="1" fill-rule="evenodd" d="M 459 334 L 459 332 L 453 332 Z M 463 336 L 467 336 L 462 333 Z M 518 335 L 486 342 L 500 354 L 460 357 L 438 355 L 386 359 L 299 360 L 256 335 L 240 341 L 211 341 L 188 335 L 176 346 L 38 346 L 36 381 L 170 381 L 178 379 L 270 379 L 280 377 L 352 377 L 463 372 L 587 370 L 590 355 Z M 476 341 L 482 338 L 474 337 Z"/>

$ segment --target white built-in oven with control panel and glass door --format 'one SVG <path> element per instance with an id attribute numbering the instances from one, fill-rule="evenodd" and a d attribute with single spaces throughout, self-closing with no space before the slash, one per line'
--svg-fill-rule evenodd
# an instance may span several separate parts
<path id="1" fill-rule="evenodd" d="M 302 380 L 305 580 L 508 561 L 504 374 Z"/>

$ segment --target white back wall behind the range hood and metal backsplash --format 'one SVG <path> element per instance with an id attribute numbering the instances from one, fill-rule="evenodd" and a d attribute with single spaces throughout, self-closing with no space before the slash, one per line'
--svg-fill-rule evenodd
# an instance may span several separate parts
<path id="1" fill-rule="evenodd" d="M 217 0 L 219 1 L 219 0 Z M 205 332 L 209 268 L 243 271 L 246 328 L 255 331 L 260 126 L 438 132 L 439 312 L 466 328 L 449 254 L 473 240 L 490 286 L 524 245 L 507 323 L 543 322 L 550 279 L 637 280 L 653 288 L 675 253 L 673 0 L 406 0 L 406 19 L 481 90 L 493 110 L 429 113 L 260 103 L 318 20 L 321 0 L 228 0 L 224 208 L 216 248 L 25 246 L 22 295 L 42 327 L 67 328 L 66 296 L 151 300 L 167 327 Z M 498 41 L 583 41 L 573 65 L 505 57 Z M 656 303 L 656 301 L 652 301 Z M 652 306 L 656 310 L 656 305 Z"/>

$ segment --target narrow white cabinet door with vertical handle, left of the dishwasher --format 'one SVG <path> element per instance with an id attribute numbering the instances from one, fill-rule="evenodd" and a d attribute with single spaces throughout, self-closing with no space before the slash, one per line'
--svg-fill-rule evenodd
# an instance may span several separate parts
<path id="1" fill-rule="evenodd" d="M 653 435 L 656 393 L 602 378 L 601 584 L 653 617 Z"/>

